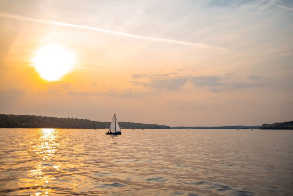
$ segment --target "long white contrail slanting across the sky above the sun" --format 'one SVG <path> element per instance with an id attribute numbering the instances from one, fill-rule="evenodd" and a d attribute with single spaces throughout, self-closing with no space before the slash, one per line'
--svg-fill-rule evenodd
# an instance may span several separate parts
<path id="1" fill-rule="evenodd" d="M 197 47 L 201 47 L 201 48 L 214 48 L 214 49 L 218 49 L 218 50 L 230 51 L 226 48 L 209 46 L 209 45 L 200 44 L 200 43 L 190 43 L 190 42 L 177 41 L 177 40 L 138 36 L 138 35 L 133 35 L 133 34 L 129 34 L 129 33 L 122 33 L 122 32 L 118 32 L 118 31 L 110 31 L 110 30 L 103 29 L 103 28 L 74 25 L 74 24 L 68 24 L 68 23 L 59 23 L 59 22 L 54 22 L 54 21 L 37 20 L 37 19 L 33 19 L 33 18 L 28 18 L 25 16 L 17 16 L 17 15 L 13 15 L 13 14 L 2 13 L 2 12 L 0 12 L 0 16 L 6 17 L 6 18 L 14 18 L 17 20 L 22 20 L 22 21 L 32 21 L 32 22 L 47 23 L 47 24 L 52 24 L 52 25 L 69 26 L 69 27 L 76 27 L 76 28 L 86 28 L 86 29 L 90 29 L 90 30 L 94 30 L 94 31 L 100 31 L 100 32 L 104 32 L 104 33 L 111 33 L 111 34 L 115 34 L 115 35 L 119 35 L 119 36 L 127 36 L 127 37 L 138 38 L 138 39 L 164 41 L 164 42 L 178 43 L 178 44 L 183 44 L 183 45 L 192 45 L 192 46 L 197 46 Z"/>

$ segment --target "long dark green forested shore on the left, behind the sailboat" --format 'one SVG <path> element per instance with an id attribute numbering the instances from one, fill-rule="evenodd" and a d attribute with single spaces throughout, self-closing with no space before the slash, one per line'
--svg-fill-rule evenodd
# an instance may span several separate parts
<path id="1" fill-rule="evenodd" d="M 118 122 L 124 129 L 170 129 L 169 126 Z M 78 118 L 0 114 L 0 128 L 109 129 L 111 122 Z"/>

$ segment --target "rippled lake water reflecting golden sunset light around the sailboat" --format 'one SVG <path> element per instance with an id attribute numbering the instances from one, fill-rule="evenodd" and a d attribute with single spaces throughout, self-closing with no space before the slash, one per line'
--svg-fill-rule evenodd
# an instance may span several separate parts
<path id="1" fill-rule="evenodd" d="M 0 129 L 0 195 L 293 195 L 293 131 Z"/>

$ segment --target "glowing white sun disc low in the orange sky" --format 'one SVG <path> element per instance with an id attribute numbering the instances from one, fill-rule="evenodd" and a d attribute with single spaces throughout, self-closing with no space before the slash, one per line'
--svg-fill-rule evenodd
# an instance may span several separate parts
<path id="1" fill-rule="evenodd" d="M 45 80 L 58 80 L 74 66 L 74 54 L 58 45 L 45 45 L 32 59 L 32 65 Z"/>

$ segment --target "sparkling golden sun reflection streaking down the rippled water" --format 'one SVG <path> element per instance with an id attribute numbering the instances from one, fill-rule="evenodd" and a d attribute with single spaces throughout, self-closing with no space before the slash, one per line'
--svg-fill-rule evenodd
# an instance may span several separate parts
<path id="1" fill-rule="evenodd" d="M 50 193 L 49 189 L 44 189 L 46 184 L 50 183 L 50 180 L 53 180 L 53 176 L 46 175 L 46 173 L 52 172 L 52 170 L 58 170 L 59 165 L 52 165 L 51 157 L 56 152 L 56 147 L 59 146 L 57 143 L 58 138 L 57 129 L 38 129 L 39 137 L 34 143 L 37 143 L 37 146 L 34 147 L 35 153 L 40 158 L 39 165 L 30 170 L 32 172 L 31 176 L 34 177 L 34 182 L 37 183 L 37 189 L 35 195 L 45 195 Z"/>

